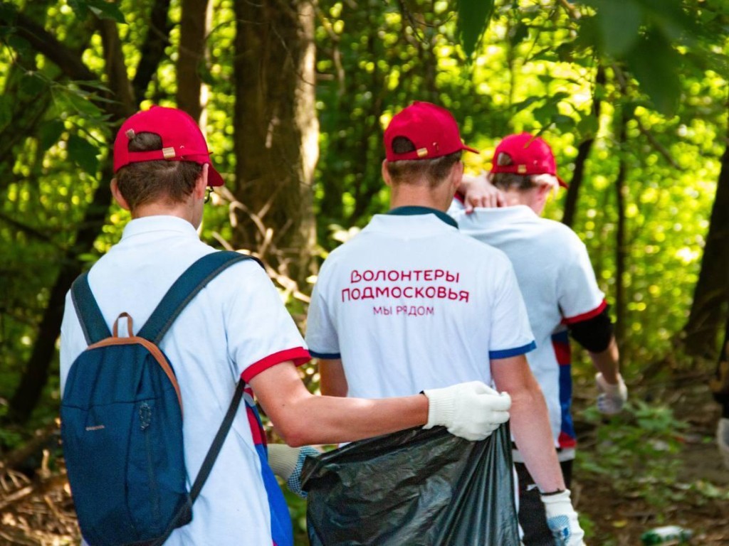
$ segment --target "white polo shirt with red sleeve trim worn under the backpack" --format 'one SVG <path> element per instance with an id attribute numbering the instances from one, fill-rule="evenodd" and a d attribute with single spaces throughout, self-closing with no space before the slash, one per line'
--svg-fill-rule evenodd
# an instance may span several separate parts
<path id="1" fill-rule="evenodd" d="M 122 239 L 91 268 L 89 283 L 109 328 L 122 312 L 139 331 L 174 280 L 214 248 L 173 216 L 130 221 Z M 160 344 L 179 381 L 188 486 L 198 474 L 239 377 L 308 360 L 276 288 L 253 261 L 234 264 L 187 305 Z M 70 294 L 61 326 L 61 392 L 86 348 Z M 292 529 L 281 489 L 268 467 L 264 435 L 247 389 L 233 426 L 195 501 L 192 522 L 165 546 L 290 546 Z"/>

